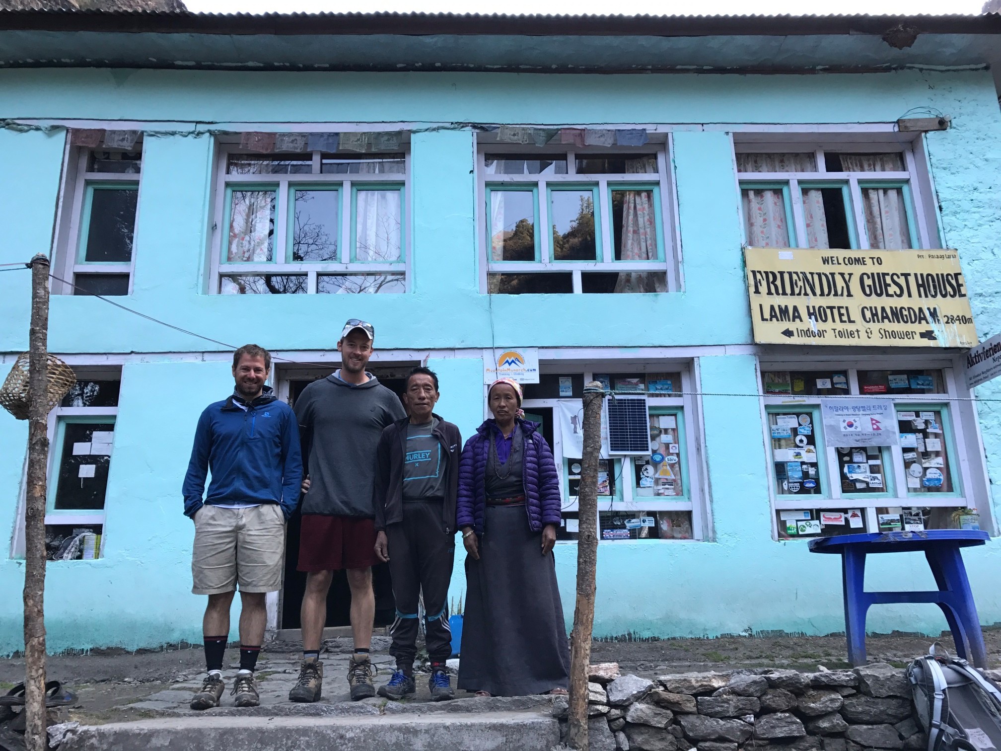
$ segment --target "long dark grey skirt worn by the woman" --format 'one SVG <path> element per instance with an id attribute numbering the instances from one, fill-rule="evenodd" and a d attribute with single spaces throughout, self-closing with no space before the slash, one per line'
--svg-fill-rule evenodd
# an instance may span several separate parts
<path id="1" fill-rule="evenodd" d="M 570 684 L 570 645 L 553 554 L 525 506 L 487 506 L 479 560 L 465 557 L 458 688 L 493 696 Z"/>

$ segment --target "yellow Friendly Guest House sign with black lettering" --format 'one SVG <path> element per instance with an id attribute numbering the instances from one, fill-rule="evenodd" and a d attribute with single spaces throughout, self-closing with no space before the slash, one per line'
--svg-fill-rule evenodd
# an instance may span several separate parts
<path id="1" fill-rule="evenodd" d="M 761 344 L 977 343 L 955 250 L 744 250 Z"/>

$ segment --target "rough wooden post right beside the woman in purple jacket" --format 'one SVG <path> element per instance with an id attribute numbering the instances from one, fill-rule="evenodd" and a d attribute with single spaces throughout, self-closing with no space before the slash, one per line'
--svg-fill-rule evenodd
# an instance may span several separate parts
<path id="1" fill-rule="evenodd" d="M 592 381 L 584 390 L 584 456 L 578 495 L 580 528 L 577 540 L 577 606 L 570 652 L 570 715 L 567 745 L 588 749 L 588 669 L 595 627 L 595 574 L 598 567 L 598 460 L 602 451 L 602 385 Z"/>

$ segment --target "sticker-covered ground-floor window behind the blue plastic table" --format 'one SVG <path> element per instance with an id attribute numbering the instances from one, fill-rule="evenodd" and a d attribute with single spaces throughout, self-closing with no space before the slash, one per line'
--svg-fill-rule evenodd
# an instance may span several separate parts
<path id="1" fill-rule="evenodd" d="M 957 461 L 973 414 L 951 399 L 951 367 L 763 365 L 762 387 L 780 539 L 959 529 L 961 517 L 977 515 L 967 509 L 976 508 L 974 478 L 961 477 Z M 850 395 L 892 400 L 898 446 L 825 445 L 821 400 Z"/>

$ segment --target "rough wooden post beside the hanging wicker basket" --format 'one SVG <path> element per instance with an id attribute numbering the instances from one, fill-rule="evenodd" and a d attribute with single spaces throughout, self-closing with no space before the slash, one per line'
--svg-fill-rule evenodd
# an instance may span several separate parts
<path id="1" fill-rule="evenodd" d="M 28 488 L 24 515 L 24 712 L 27 751 L 48 748 L 45 717 L 45 491 L 49 439 L 49 259 L 31 259 Z"/>

